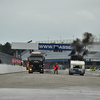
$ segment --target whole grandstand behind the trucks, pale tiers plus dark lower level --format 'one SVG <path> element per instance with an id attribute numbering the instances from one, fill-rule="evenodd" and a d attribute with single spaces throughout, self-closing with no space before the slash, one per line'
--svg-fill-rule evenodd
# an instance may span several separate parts
<path id="1" fill-rule="evenodd" d="M 93 46 L 100 45 L 100 42 L 94 42 Z M 92 46 L 92 47 L 93 47 Z M 43 53 L 45 57 L 45 68 L 53 68 L 54 64 L 58 62 L 59 65 L 62 65 L 63 69 L 69 67 L 68 60 L 70 59 L 69 54 L 71 51 L 62 51 L 62 52 L 54 52 L 53 50 L 35 50 Z M 29 57 L 29 50 L 22 53 L 22 60 L 27 60 Z M 99 51 L 89 51 L 87 56 L 84 56 L 84 60 L 86 62 L 86 67 L 94 67 L 100 68 L 100 52 Z"/>

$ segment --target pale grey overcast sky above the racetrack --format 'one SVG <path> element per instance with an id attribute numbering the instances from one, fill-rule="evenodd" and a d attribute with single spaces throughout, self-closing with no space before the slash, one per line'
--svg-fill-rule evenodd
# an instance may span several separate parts
<path id="1" fill-rule="evenodd" d="M 100 0 L 0 0 L 0 43 L 100 35 Z M 49 38 L 48 38 L 49 37 Z"/>

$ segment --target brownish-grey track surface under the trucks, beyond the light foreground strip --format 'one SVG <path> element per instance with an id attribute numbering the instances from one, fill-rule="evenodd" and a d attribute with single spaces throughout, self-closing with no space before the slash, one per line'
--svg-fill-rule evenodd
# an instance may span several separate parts
<path id="1" fill-rule="evenodd" d="M 53 71 L 29 74 L 26 71 L 0 75 L 0 88 L 54 89 L 66 86 L 100 87 L 100 77 L 96 74 L 91 75 L 91 72 L 86 72 L 84 76 L 68 75 L 67 70 L 59 71 L 59 74 L 53 74 Z"/>

